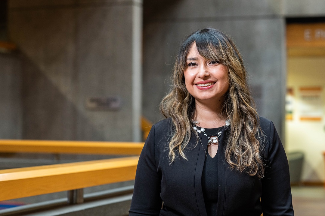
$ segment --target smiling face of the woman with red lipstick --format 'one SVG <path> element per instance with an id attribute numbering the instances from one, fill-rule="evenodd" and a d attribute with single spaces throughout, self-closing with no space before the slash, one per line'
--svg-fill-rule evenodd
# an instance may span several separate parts
<path id="1" fill-rule="evenodd" d="M 194 42 L 186 57 L 185 85 L 196 101 L 211 105 L 223 99 L 229 88 L 228 69 L 214 61 L 205 60 Z"/>

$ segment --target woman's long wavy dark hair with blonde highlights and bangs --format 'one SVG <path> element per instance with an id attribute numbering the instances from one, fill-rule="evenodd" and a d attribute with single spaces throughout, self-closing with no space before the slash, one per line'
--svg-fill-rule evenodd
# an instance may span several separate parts
<path id="1" fill-rule="evenodd" d="M 195 115 L 195 99 L 189 94 L 184 79 L 186 58 L 193 43 L 196 43 L 196 48 L 203 58 L 228 68 L 229 89 L 220 113 L 231 122 L 229 137 L 225 142 L 226 161 L 231 168 L 240 172 L 263 177 L 260 142 L 264 135 L 247 84 L 243 60 L 230 37 L 213 28 L 198 30 L 183 41 L 173 69 L 171 90 L 160 104 L 163 116 L 171 118 L 175 126 L 169 142 L 170 163 L 178 156 L 187 160 L 185 151 L 191 132 L 197 135 L 191 123 Z"/>

